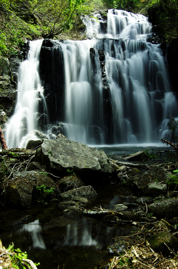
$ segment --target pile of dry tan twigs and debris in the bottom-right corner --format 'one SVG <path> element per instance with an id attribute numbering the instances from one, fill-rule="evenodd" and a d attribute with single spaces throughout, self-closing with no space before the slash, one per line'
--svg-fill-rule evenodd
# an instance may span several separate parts
<path id="1" fill-rule="evenodd" d="M 130 236 L 122 236 L 115 238 L 115 244 L 110 246 L 115 252 L 122 249 L 124 252 L 119 253 L 118 257 L 113 257 L 109 263 L 109 269 L 129 269 L 129 268 L 149 268 L 149 269 L 170 269 L 178 268 L 177 254 L 173 257 L 168 255 L 164 257 L 162 253 L 156 253 L 150 247 L 147 238 L 159 232 L 170 231 L 167 223 L 164 220 L 143 225 L 138 224 L 140 231 L 134 232 Z M 152 228 L 151 228 L 152 226 Z M 123 248 L 124 247 L 124 248 Z M 170 251 L 170 249 L 168 249 Z"/>

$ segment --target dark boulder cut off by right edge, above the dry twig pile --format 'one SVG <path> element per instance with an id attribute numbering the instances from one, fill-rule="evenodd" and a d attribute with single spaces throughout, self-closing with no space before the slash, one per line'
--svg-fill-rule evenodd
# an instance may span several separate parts
<path id="1" fill-rule="evenodd" d="M 159 219 L 178 217 L 178 199 L 158 201 L 154 204 L 150 204 L 148 210 Z"/>

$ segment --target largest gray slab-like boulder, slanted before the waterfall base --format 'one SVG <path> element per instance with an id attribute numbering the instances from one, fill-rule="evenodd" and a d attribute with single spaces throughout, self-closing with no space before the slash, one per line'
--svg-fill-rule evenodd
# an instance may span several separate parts
<path id="1" fill-rule="evenodd" d="M 36 155 L 37 161 L 41 159 L 47 169 L 114 172 L 104 151 L 69 140 L 63 135 L 57 138 L 44 139 L 41 152 L 38 150 Z"/>

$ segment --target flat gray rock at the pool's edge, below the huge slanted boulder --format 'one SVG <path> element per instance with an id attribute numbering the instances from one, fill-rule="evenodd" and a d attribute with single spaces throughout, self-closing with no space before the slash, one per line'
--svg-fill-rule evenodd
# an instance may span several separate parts
<path id="1" fill-rule="evenodd" d="M 84 198 L 96 198 L 98 194 L 92 186 L 83 186 L 77 189 L 68 190 L 60 194 L 60 198 L 64 200 L 73 200 L 75 197 L 84 197 Z"/>

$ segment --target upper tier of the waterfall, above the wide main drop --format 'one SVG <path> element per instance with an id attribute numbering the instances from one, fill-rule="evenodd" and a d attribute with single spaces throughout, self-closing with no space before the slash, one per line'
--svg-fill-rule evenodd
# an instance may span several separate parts
<path id="1" fill-rule="evenodd" d="M 152 28 L 147 17 L 117 9 L 108 10 L 107 26 L 106 21 L 99 13 L 93 18 L 83 18 L 83 22 L 86 24 L 86 34 L 90 38 L 123 38 L 147 41 Z"/>

